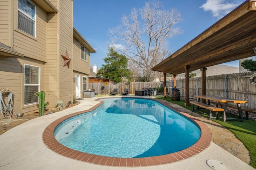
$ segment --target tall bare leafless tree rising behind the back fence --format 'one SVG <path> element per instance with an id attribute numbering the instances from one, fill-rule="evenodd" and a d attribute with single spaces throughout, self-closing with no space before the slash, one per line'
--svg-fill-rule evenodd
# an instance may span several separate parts
<path id="1" fill-rule="evenodd" d="M 148 81 L 154 81 L 160 73 L 151 68 L 170 55 L 167 40 L 182 32 L 174 27 L 181 20 L 176 10 L 164 10 L 160 2 L 146 2 L 143 8 L 122 16 L 121 24 L 110 30 L 112 47 L 136 64 Z"/>

